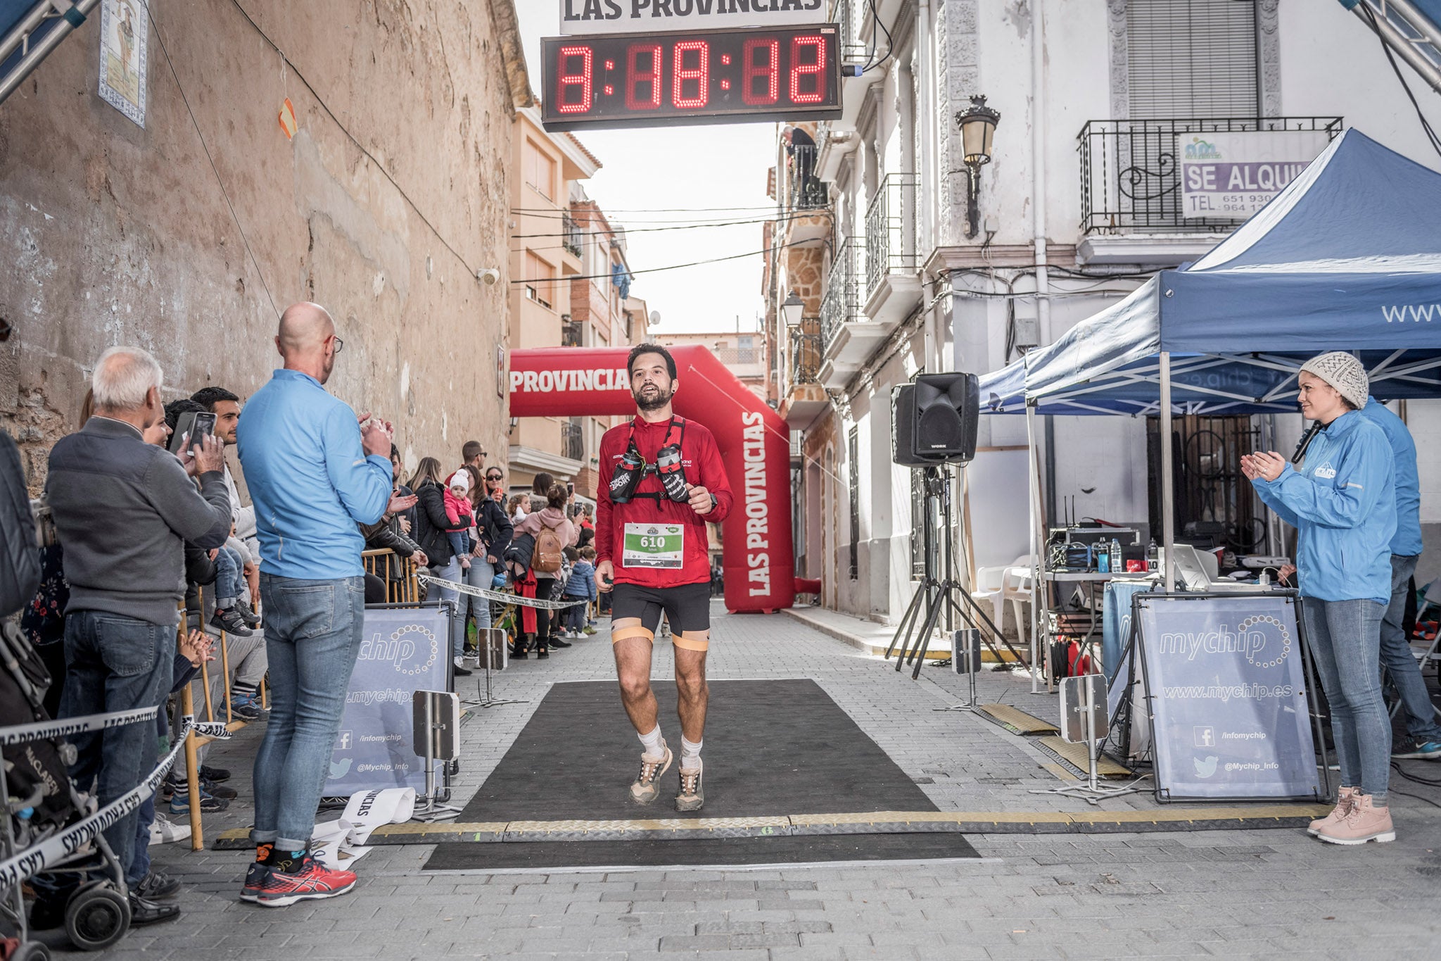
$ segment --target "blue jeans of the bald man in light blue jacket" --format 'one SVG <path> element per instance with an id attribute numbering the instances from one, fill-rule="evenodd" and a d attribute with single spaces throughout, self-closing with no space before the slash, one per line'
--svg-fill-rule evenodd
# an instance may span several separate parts
<path id="1" fill-rule="evenodd" d="M 365 627 L 365 578 L 261 572 L 271 715 L 255 755 L 251 840 L 310 847 Z"/>

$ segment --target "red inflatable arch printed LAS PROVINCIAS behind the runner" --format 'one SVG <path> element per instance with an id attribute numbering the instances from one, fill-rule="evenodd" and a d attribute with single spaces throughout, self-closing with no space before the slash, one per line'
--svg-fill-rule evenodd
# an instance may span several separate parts
<path id="1" fill-rule="evenodd" d="M 708 347 L 667 347 L 674 411 L 716 438 L 735 491 L 722 522 L 725 604 L 775 611 L 795 598 L 791 550 L 791 442 L 785 421 Z M 510 353 L 510 416 L 634 415 L 628 347 L 533 347 Z"/>

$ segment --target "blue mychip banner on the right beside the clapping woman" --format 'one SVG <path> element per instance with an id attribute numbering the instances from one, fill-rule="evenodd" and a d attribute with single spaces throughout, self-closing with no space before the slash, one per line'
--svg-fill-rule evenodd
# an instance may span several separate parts
<path id="1" fill-rule="evenodd" d="M 1156 795 L 1321 798 L 1295 602 L 1141 596 Z"/>

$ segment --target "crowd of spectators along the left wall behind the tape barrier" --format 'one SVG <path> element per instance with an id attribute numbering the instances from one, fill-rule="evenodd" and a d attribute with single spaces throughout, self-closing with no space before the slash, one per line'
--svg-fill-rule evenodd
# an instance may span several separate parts
<path id="1" fill-rule="evenodd" d="M 331 333 L 326 344 L 333 363 L 340 341 Z M 265 716 L 261 690 L 271 669 L 272 618 L 261 585 L 275 575 L 262 560 L 256 509 L 241 496 L 225 458 L 226 447 L 236 444 L 245 402 L 222 386 L 206 386 L 163 403 L 163 390 L 161 369 L 144 350 L 112 347 L 97 360 L 76 432 L 50 451 L 39 511 L 42 586 L 22 615 L 23 634 L 50 671 L 45 705 L 53 716 L 161 707 L 154 725 L 72 738 L 78 752 L 72 779 L 101 805 L 135 788 L 169 752 L 182 713 L 171 696 L 202 670 L 216 716 L 242 722 Z M 196 422 L 213 426 L 174 437 Z M 389 425 L 385 437 L 391 438 Z M 366 434 L 367 455 L 373 442 Z M 470 673 L 463 660 L 467 628 L 491 628 L 496 609 L 490 599 L 450 584 L 581 602 L 558 611 L 523 609 L 512 625 L 516 657 L 530 650 L 546 657 L 552 647 L 569 647 L 565 638 L 595 633 L 588 617 L 597 599 L 589 507 L 578 509 L 574 487 L 543 474 L 535 484 L 539 497 L 507 504 L 504 470 L 487 467 L 486 455 L 481 444 L 468 441 L 455 470 L 447 473 L 438 458 L 422 457 L 406 478 L 389 439 L 385 511 L 356 523 L 365 511 L 352 510 L 347 520 L 369 555 L 365 602 L 393 601 L 398 585 L 414 585 L 414 572 L 422 569 L 435 579 L 431 592 L 455 605 L 457 676 Z M 563 558 L 540 562 L 537 552 L 553 542 L 562 545 Z M 425 594 L 424 585 L 419 592 Z M 222 638 L 228 670 L 216 663 Z M 231 772 L 206 765 L 205 748 L 196 766 L 200 810 L 225 810 L 236 797 L 226 785 Z M 163 788 L 105 831 L 124 869 L 133 925 L 180 913 L 170 900 L 180 885 L 151 867 L 147 847 L 189 837 L 189 774 L 182 755 Z M 36 879 L 33 928 L 62 924 L 65 900 L 78 883 L 62 877 Z"/>

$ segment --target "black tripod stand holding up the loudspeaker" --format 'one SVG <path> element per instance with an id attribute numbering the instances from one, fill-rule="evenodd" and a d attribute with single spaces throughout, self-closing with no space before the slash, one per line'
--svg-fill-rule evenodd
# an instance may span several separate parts
<path id="1" fill-rule="evenodd" d="M 931 645 L 931 637 L 941 627 L 944 617 L 947 633 L 954 631 L 957 624 L 964 624 L 973 630 L 980 630 L 980 624 L 984 624 L 990 634 L 1000 638 L 1006 650 L 1019 663 L 1025 664 L 1020 653 L 1006 641 L 1000 628 L 986 617 L 986 612 L 977 608 L 976 599 L 971 598 L 965 585 L 955 576 L 955 550 L 950 536 L 950 532 L 954 529 L 950 467 L 935 465 L 922 470 L 925 569 L 921 584 L 916 586 L 915 594 L 911 595 L 911 604 L 906 607 L 905 615 L 896 627 L 895 637 L 891 638 L 885 660 L 891 660 L 891 654 L 896 654 L 896 671 L 899 673 L 904 664 L 912 664 L 911 677 L 919 677 L 921 666 L 925 664 L 925 654 Z M 945 532 L 944 536 L 941 532 Z M 918 624 L 919 631 L 916 631 Z M 986 647 L 996 656 L 996 660 L 1004 660 L 1000 648 L 996 647 L 987 633 L 980 631 L 980 635 Z"/>

